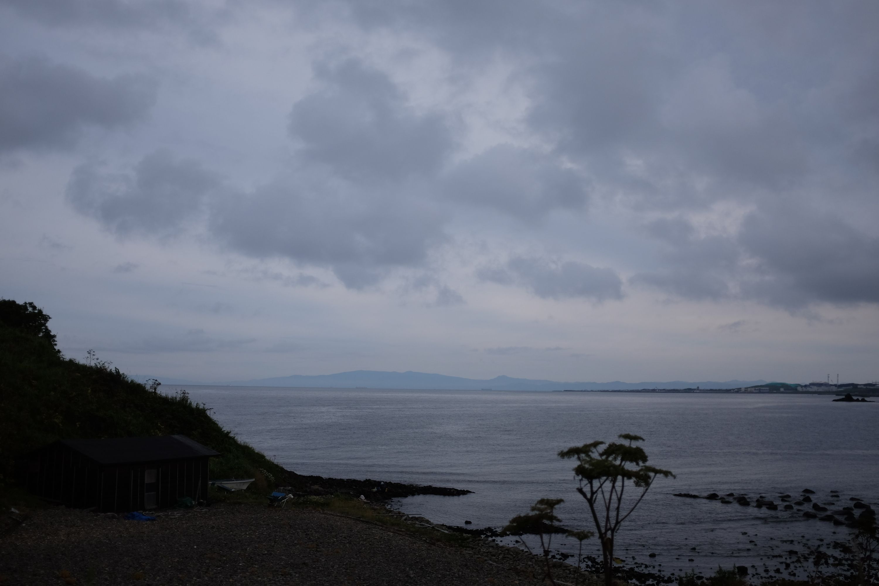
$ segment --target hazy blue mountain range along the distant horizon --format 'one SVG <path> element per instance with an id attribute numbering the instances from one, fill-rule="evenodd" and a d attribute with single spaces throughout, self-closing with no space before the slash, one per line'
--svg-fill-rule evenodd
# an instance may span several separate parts
<path id="1" fill-rule="evenodd" d="M 168 377 L 149 377 L 134 375 L 134 380 L 155 378 L 165 385 L 230 385 L 235 387 L 336 387 L 336 388 L 414 388 L 414 389 L 491 389 L 494 391 L 563 391 L 565 389 L 588 391 L 630 391 L 642 388 L 738 388 L 764 385 L 766 380 L 671 380 L 666 382 L 557 382 L 556 380 L 513 379 L 497 376 L 493 379 L 464 379 L 445 374 L 389 373 L 383 371 L 352 371 L 350 373 L 318 374 L 306 376 L 293 374 L 272 379 L 227 380 L 197 382 L 195 380 L 171 379 Z"/>

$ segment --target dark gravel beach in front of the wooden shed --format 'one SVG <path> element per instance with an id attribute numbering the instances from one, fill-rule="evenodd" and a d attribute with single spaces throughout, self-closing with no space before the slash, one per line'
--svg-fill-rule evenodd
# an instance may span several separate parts
<path id="1" fill-rule="evenodd" d="M 573 580 L 570 567 L 563 572 Z M 34 511 L 0 538 L 0 586 L 526 586 L 542 583 L 541 577 L 532 556 L 485 539 L 447 545 L 318 510 L 257 505 L 171 510 L 155 522 L 56 507 Z"/>

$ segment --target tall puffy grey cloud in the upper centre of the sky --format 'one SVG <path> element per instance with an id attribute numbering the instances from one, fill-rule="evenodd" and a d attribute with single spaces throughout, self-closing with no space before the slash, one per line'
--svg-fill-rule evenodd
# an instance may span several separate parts
<path id="1" fill-rule="evenodd" d="M 316 68 L 321 89 L 290 113 L 307 161 L 353 180 L 392 181 L 435 172 L 452 148 L 445 121 L 406 104 L 388 76 L 349 59 Z"/>

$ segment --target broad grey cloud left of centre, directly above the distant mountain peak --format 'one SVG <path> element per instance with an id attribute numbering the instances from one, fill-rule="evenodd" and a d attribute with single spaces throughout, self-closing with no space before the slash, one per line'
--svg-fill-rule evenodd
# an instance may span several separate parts
<path id="1" fill-rule="evenodd" d="M 372 286 L 397 267 L 417 266 L 445 240 L 430 202 L 317 179 L 307 174 L 217 202 L 211 233 L 255 258 L 327 266 L 345 286 Z"/>

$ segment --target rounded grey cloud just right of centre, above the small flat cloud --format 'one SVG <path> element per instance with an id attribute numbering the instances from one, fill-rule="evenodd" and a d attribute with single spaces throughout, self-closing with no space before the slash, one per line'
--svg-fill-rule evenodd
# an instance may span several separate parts
<path id="1" fill-rule="evenodd" d="M 584 183 L 574 170 L 548 156 L 498 145 L 456 165 L 444 189 L 451 199 L 494 207 L 530 221 L 554 208 L 585 206 Z"/>

